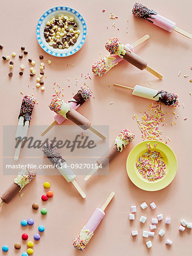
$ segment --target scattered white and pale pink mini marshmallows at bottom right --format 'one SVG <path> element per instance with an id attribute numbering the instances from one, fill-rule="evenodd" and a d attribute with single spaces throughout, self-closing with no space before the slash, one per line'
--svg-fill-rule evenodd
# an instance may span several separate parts
<path id="1" fill-rule="evenodd" d="M 141 205 L 140 205 L 140 207 L 144 210 L 144 209 L 146 209 L 147 207 L 148 207 L 148 205 L 147 205 L 147 203 L 142 203 Z M 156 208 L 156 204 L 155 204 L 155 202 L 152 202 L 151 204 L 150 204 L 150 207 L 151 207 L 151 209 L 155 209 Z M 130 220 L 135 220 L 135 213 L 137 212 L 137 207 L 136 207 L 136 205 L 132 205 L 131 206 L 131 213 L 129 214 L 129 219 Z M 145 221 L 147 220 L 147 217 L 145 217 L 145 216 L 143 216 L 143 215 L 141 215 L 141 217 L 140 217 L 140 222 L 141 223 L 145 223 Z M 162 213 L 160 213 L 160 214 L 157 214 L 157 218 L 152 218 L 152 220 L 151 220 L 151 225 L 149 226 L 149 228 L 150 228 L 150 230 L 151 231 L 146 231 L 146 230 L 143 230 L 143 237 L 145 237 L 145 238 L 148 238 L 148 237 L 155 237 L 155 232 L 153 232 L 153 230 L 155 230 L 156 228 L 157 228 L 157 224 L 158 224 L 158 221 L 161 221 L 161 220 L 163 220 L 163 215 L 162 215 Z M 171 219 L 169 218 L 169 217 L 166 217 L 165 218 L 165 224 L 166 225 L 170 225 L 170 223 L 171 223 Z M 180 226 L 180 231 L 184 231 L 185 230 L 185 226 L 187 226 L 187 228 L 189 228 L 190 226 L 191 226 L 191 228 L 192 228 L 192 223 L 188 223 L 187 224 L 187 222 L 185 221 L 185 220 L 182 220 L 181 221 L 181 224 L 183 225 L 183 226 Z M 132 232 L 131 232 L 131 234 L 132 234 L 132 236 L 133 237 L 135 237 L 135 236 L 137 236 L 139 233 L 138 233 L 138 230 L 133 230 Z M 161 229 L 159 232 L 158 232 L 158 234 L 159 234 L 159 236 L 164 236 L 164 234 L 165 234 L 165 230 L 164 229 Z M 169 240 L 169 239 L 167 239 L 166 240 L 166 245 L 172 245 L 172 241 L 171 240 Z M 149 241 L 147 241 L 146 242 L 146 245 L 147 245 L 147 247 L 148 248 L 151 248 L 152 247 L 152 242 L 151 242 L 151 240 L 149 240 Z"/>

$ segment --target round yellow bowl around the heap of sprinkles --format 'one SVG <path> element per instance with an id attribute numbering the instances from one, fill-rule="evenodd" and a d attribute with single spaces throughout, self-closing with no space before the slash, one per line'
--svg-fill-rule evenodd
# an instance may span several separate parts
<path id="1" fill-rule="evenodd" d="M 147 144 L 150 143 L 151 151 L 160 152 L 165 164 L 166 164 L 166 175 L 162 179 L 157 181 L 148 181 L 144 179 L 136 167 L 137 159 L 148 151 Z M 154 144 L 157 144 L 156 147 Z M 159 141 L 144 141 L 137 144 L 131 150 L 130 154 L 127 157 L 127 174 L 130 177 L 130 180 L 138 188 L 141 188 L 145 191 L 157 191 L 168 186 L 176 176 L 177 172 L 177 158 L 173 150 L 166 144 Z"/>

